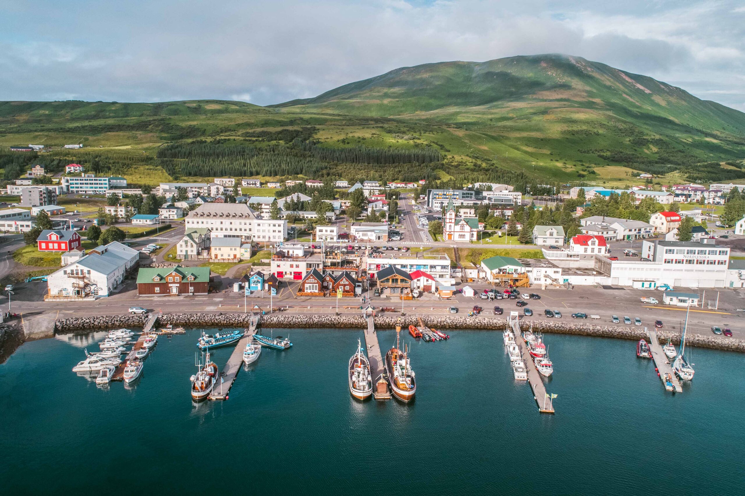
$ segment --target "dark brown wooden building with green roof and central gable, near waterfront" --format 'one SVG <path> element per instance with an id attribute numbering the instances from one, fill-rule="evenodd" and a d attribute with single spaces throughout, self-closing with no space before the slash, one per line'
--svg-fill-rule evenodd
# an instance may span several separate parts
<path id="1" fill-rule="evenodd" d="M 141 268 L 137 274 L 137 294 L 207 294 L 209 267 Z"/>

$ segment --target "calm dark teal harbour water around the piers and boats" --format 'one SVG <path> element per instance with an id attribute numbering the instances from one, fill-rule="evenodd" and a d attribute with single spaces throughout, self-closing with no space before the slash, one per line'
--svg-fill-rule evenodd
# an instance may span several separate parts
<path id="1" fill-rule="evenodd" d="M 547 416 L 513 380 L 501 333 L 413 343 L 418 390 L 402 405 L 349 396 L 362 332 L 292 330 L 294 347 L 262 350 L 228 401 L 195 407 L 197 336 L 159 338 L 134 387 L 106 390 L 70 371 L 84 338 L 24 344 L 0 365 L 0 493 L 744 491 L 745 355 L 694 350 L 696 378 L 673 396 L 631 341 L 547 335 Z"/>

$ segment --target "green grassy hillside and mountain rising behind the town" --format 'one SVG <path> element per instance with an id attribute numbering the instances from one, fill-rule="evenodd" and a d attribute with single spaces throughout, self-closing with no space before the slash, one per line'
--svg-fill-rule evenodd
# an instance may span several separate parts
<path id="1" fill-rule="evenodd" d="M 171 146 L 192 141 L 214 143 Z M 267 108 L 220 100 L 0 102 L 0 146 L 29 143 L 52 151 L 11 164 L 6 179 L 31 161 L 53 170 L 75 161 L 137 184 L 221 173 L 614 187 L 640 184 L 640 172 L 662 184 L 745 179 L 742 112 L 553 54 L 399 68 Z M 67 143 L 86 148 L 59 149 Z M 355 152 L 361 148 L 371 151 Z M 425 150 L 439 152 L 439 161 L 420 161 L 431 157 Z M 0 167 L 19 160 L 0 156 Z"/>

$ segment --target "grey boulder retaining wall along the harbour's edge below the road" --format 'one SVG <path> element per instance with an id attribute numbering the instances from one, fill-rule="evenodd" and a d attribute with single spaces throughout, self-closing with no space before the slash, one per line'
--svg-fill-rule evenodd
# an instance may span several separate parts
<path id="1" fill-rule="evenodd" d="M 495 329 L 502 330 L 507 326 L 507 319 L 487 317 L 460 317 L 454 315 L 422 316 L 425 324 L 435 329 Z M 245 327 L 248 326 L 250 314 L 165 314 L 160 319 L 162 325 L 172 323 L 180 326 L 190 327 Z M 74 332 L 93 329 L 115 329 L 118 327 L 142 326 L 146 321 L 144 315 L 102 315 L 99 317 L 68 318 L 60 319 L 56 323 L 56 332 Z M 417 324 L 416 315 L 384 314 L 375 316 L 375 327 L 378 329 L 393 329 L 396 323 L 401 323 L 405 328 L 410 324 Z M 521 321 L 522 329 L 528 329 L 530 325 L 533 330 L 551 332 L 557 334 L 574 334 L 586 336 L 600 336 L 603 338 L 618 338 L 638 341 L 647 338 L 643 327 L 633 326 L 603 326 L 595 323 L 584 323 L 580 321 Z M 264 327 L 288 327 L 292 329 L 312 328 L 340 328 L 340 329 L 364 329 L 367 323 L 362 315 L 291 315 L 275 313 L 261 317 L 261 326 Z M 657 335 L 661 341 L 668 338 L 674 344 L 679 344 L 679 332 L 658 331 Z M 687 340 L 690 346 L 711 348 L 714 350 L 729 350 L 745 352 L 745 341 L 724 336 L 706 336 L 691 334 Z"/>

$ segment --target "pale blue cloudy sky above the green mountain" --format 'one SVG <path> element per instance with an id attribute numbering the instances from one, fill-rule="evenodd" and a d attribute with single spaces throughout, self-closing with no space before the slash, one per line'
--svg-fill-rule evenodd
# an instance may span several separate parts
<path id="1" fill-rule="evenodd" d="M 0 0 L 0 100 L 268 105 L 404 66 L 545 53 L 745 112 L 737 0 Z"/>

